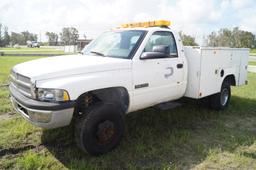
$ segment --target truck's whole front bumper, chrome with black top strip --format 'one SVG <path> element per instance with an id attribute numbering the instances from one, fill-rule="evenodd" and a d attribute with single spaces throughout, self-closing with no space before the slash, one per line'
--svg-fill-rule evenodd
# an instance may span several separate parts
<path id="1" fill-rule="evenodd" d="M 12 86 L 9 88 L 14 109 L 32 124 L 47 129 L 70 124 L 74 113 L 74 101 L 41 102 L 25 97 Z"/>

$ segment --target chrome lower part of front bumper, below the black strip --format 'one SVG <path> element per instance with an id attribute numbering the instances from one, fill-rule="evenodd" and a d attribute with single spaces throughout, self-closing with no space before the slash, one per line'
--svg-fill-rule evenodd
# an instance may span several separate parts
<path id="1" fill-rule="evenodd" d="M 11 102 L 14 109 L 22 115 L 26 120 L 35 126 L 42 128 L 57 128 L 70 124 L 74 108 L 67 108 L 63 110 L 37 110 L 31 109 L 20 102 L 18 102 L 13 96 L 11 96 Z"/>

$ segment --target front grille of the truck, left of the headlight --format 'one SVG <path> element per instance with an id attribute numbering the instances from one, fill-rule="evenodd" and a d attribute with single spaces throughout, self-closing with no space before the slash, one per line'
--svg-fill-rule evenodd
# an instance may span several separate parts
<path id="1" fill-rule="evenodd" d="M 11 71 L 11 85 L 27 97 L 31 96 L 30 78 Z"/>

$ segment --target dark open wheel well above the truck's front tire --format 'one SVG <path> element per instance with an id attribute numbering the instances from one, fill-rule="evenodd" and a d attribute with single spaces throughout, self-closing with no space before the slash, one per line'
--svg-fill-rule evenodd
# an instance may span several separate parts
<path id="1" fill-rule="evenodd" d="M 129 107 L 129 94 L 124 87 L 111 87 L 88 91 L 80 95 L 77 99 L 76 113 L 85 111 L 97 102 L 115 103 L 120 106 L 123 113 Z"/>

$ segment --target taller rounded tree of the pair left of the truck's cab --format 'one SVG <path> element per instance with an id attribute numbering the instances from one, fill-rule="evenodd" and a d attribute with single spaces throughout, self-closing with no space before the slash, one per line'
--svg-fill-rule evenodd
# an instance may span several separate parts
<path id="1" fill-rule="evenodd" d="M 64 45 L 75 45 L 78 37 L 78 30 L 74 27 L 64 27 L 60 33 L 60 39 Z"/>

